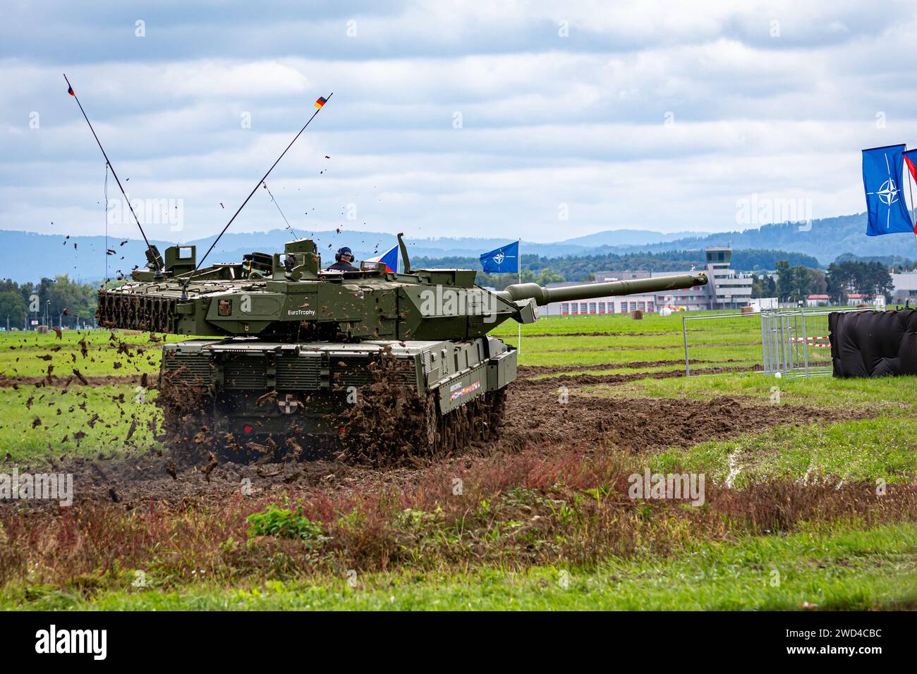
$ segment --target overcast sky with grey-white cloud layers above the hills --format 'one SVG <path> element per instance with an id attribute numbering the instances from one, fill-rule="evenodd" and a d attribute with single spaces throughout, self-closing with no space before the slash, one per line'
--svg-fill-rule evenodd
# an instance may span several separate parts
<path id="1" fill-rule="evenodd" d="M 917 144 L 912 2 L 559 5 L 6 0 L 0 228 L 104 230 L 105 162 L 63 72 L 131 199 L 181 205 L 179 224 L 148 206 L 171 240 L 223 227 L 330 92 L 268 180 L 299 232 L 845 215 L 865 210 L 860 149 Z M 233 230 L 283 226 L 260 190 Z"/>

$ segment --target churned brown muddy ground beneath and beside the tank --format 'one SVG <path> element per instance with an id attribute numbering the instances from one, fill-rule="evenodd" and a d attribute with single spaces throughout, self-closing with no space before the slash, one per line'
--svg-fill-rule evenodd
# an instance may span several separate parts
<path id="1" fill-rule="evenodd" d="M 50 469 L 73 473 L 76 502 L 102 500 L 130 508 L 152 500 L 182 507 L 182 504 L 238 495 L 241 485 L 261 494 L 279 494 L 291 488 L 306 493 L 370 491 L 386 486 L 406 487 L 419 480 L 434 464 L 447 464 L 446 467 L 458 464 L 458 467 L 468 469 L 475 461 L 497 452 L 526 449 L 551 455 L 570 448 L 591 451 L 603 446 L 622 447 L 635 453 L 652 452 L 760 432 L 774 425 L 819 421 L 834 423 L 863 416 L 788 404 L 769 405 L 741 396 L 719 396 L 702 401 L 610 398 L 582 390 L 596 384 L 615 385 L 647 376 L 682 376 L 681 370 L 649 375 L 577 374 L 534 379 L 536 375 L 550 374 L 552 370 L 569 368 L 520 368 L 520 378 L 508 393 L 503 430 L 496 441 L 473 443 L 455 456 L 414 459 L 414 465 L 383 468 L 321 459 L 260 466 L 222 463 L 214 467 L 208 465 L 213 461 L 206 457 L 182 461 L 182 457 L 187 457 L 188 450 L 171 447 L 165 452 L 135 454 L 128 459 L 68 459 L 52 465 Z M 566 403 L 560 402 L 560 387 L 569 392 Z M 0 472 L 9 472 L 13 468 L 9 462 L 0 462 Z M 17 468 L 22 472 L 29 467 L 19 465 Z M 36 471 L 49 470 L 47 465 L 32 468 Z M 36 501 L 0 502 L 0 508 L 52 505 Z"/>

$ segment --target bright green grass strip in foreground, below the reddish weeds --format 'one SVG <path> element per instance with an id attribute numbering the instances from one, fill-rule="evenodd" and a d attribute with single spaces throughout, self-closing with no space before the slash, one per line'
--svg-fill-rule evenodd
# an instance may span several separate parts
<path id="1" fill-rule="evenodd" d="M 0 608 L 37 611 L 792 611 L 907 609 L 917 604 L 917 528 L 757 536 L 679 557 L 588 569 L 344 574 L 242 587 L 133 589 L 133 576 L 86 598 L 78 586 L 14 589 Z M 115 584 L 114 582 L 112 584 Z"/>

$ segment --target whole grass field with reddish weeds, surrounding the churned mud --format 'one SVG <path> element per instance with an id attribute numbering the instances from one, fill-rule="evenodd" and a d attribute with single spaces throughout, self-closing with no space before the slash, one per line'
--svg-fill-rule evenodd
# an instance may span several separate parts
<path id="1" fill-rule="evenodd" d="M 691 333 L 691 344 L 702 345 L 704 360 L 714 364 L 759 362 L 757 320 L 741 320 L 728 332 L 697 322 L 702 325 Z M 507 324 L 493 334 L 514 343 L 515 331 Z M 523 334 L 520 364 L 556 369 L 539 377 L 683 371 L 678 315 L 642 321 L 545 318 L 524 326 Z M 129 366 L 123 353 L 107 346 L 105 331 L 88 337 L 86 358 L 81 336 L 63 337 L 0 335 L 0 371 L 41 378 L 54 364 L 53 373 L 65 378 L 74 366 L 86 376 L 158 368 L 160 345 L 150 344 L 148 336 L 118 337 L 135 349 Z M 57 346 L 59 351 L 49 351 Z M 136 348 L 146 350 L 138 355 Z M 38 359 L 48 354 L 52 359 Z M 122 366 L 115 369 L 117 361 Z M 583 366 L 600 367 L 578 370 Z M 134 450 L 156 447 L 147 427 L 156 418 L 149 404 L 155 392 L 146 393 L 146 402 L 137 394 L 136 384 L 117 381 L 100 387 L 72 383 L 66 389 L 6 387 L 0 392 L 0 455 L 8 452 L 13 462 L 34 464 L 119 454 L 124 449 L 116 439 L 131 415 L 138 420 Z M 392 492 L 293 491 L 280 504 L 303 506 L 303 516 L 315 525 L 312 537 L 294 540 L 247 533 L 246 518 L 267 508 L 273 496 L 178 511 L 152 506 L 93 511 L 77 518 L 83 547 L 72 555 L 44 549 L 61 540 L 63 530 L 55 528 L 60 522 L 42 524 L 7 510 L 0 519 L 0 547 L 6 546 L 0 553 L 0 580 L 6 579 L 0 607 L 917 608 L 917 379 L 775 380 L 744 371 L 592 383 L 571 394 L 610 407 L 622 399 L 646 400 L 647 409 L 657 399 L 737 396 L 751 404 L 867 418 L 778 423 L 641 456 L 602 445 L 588 456 L 558 447 L 556 457 L 523 449 L 474 459 L 463 473 L 466 500 L 458 504 L 448 498 L 447 487 L 436 487 L 437 479 L 448 481 L 455 469 L 436 466 L 422 476 L 420 487 Z M 95 414 L 99 419 L 90 427 Z M 665 418 L 658 423 L 664 425 Z M 77 432 L 85 434 L 79 444 Z M 645 466 L 705 474 L 709 503 L 692 508 L 618 498 L 626 489 L 620 476 Z M 888 493 L 878 495 L 884 485 Z M 5 565 L 12 569 L 6 575 Z M 20 568 L 28 573 L 17 575 Z M 138 570 L 145 578 L 139 586 Z"/>

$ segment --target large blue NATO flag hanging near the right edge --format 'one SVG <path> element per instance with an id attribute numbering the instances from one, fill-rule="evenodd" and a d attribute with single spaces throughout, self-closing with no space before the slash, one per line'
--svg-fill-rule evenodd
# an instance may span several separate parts
<path id="1" fill-rule="evenodd" d="M 869 237 L 914 230 L 911 214 L 901 192 L 905 145 L 863 150 L 863 187 L 866 190 Z"/>

